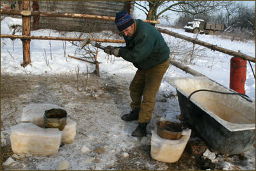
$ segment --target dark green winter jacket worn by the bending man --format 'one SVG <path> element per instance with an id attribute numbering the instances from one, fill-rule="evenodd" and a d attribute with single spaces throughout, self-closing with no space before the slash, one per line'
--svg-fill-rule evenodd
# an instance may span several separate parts
<path id="1" fill-rule="evenodd" d="M 162 34 L 152 25 L 142 20 L 136 22 L 133 36 L 124 36 L 126 46 L 120 48 L 119 56 L 134 64 L 140 70 L 148 70 L 164 63 L 170 54 Z"/>

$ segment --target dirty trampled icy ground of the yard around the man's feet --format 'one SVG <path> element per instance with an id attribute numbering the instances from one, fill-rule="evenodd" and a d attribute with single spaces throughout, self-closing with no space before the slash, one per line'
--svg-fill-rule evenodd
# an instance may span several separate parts
<path id="1" fill-rule="evenodd" d="M 125 123 L 120 115 L 129 112 L 129 75 L 91 75 L 87 91 L 77 91 L 76 75 L 1 75 L 1 146 L 10 145 L 10 127 L 20 123 L 22 109 L 29 103 L 52 103 L 65 108 L 77 122 L 72 144 L 60 147 L 58 154 L 43 157 L 13 156 L 15 163 L 4 170 L 56 170 L 67 160 L 68 170 L 253 170 L 255 149 L 238 155 L 214 155 L 214 167 L 205 168 L 197 156 L 184 151 L 176 163 L 163 163 L 150 157 L 151 130 L 160 119 L 177 121 L 179 102 L 172 91 L 159 91 L 153 119 L 144 138 L 131 137 L 136 121 Z M 195 137 L 194 137 L 195 139 Z M 191 139 L 192 140 L 192 139 Z M 88 147 L 90 151 L 82 152 Z"/>

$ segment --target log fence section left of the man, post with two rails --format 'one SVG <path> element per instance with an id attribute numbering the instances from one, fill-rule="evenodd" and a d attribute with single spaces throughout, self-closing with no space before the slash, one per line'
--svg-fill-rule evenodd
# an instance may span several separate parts
<path id="1" fill-rule="evenodd" d="M 22 36 L 1 34 L 1 38 L 20 38 L 23 45 L 23 63 L 21 66 L 24 68 L 31 63 L 30 59 L 30 41 L 31 39 L 38 40 L 62 40 L 62 41 L 83 41 L 81 38 L 62 38 L 51 36 L 30 36 L 31 32 L 31 16 L 32 17 L 65 17 L 65 18 L 77 18 L 77 19 L 94 19 L 94 20 L 106 20 L 115 21 L 115 17 L 100 16 L 100 15 L 86 15 L 81 13 L 52 13 L 42 11 L 31 11 L 31 5 L 29 1 L 22 1 L 22 10 L 2 10 L 1 15 L 22 15 Z M 158 21 L 144 20 L 150 24 L 159 24 Z M 124 40 L 107 40 L 107 39 L 90 39 L 98 42 L 112 42 L 112 43 L 124 43 Z M 96 71 L 99 71 L 99 63 L 95 56 Z M 99 76 L 99 73 L 97 72 Z"/>

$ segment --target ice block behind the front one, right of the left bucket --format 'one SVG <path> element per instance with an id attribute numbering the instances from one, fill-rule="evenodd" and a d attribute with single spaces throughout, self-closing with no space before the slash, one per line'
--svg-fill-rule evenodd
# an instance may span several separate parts
<path id="1" fill-rule="evenodd" d="M 67 124 L 65 125 L 65 128 L 62 131 L 63 133 L 61 141 L 63 144 L 70 144 L 74 142 L 76 136 L 76 122 L 67 118 Z"/>

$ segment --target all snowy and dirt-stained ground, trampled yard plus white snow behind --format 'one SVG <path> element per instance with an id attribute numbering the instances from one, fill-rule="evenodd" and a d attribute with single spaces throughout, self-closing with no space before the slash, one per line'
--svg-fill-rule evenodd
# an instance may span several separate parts
<path id="1" fill-rule="evenodd" d="M 10 26 L 13 24 L 20 24 L 20 20 L 6 17 L 1 21 L 1 34 L 12 34 Z M 193 36 L 181 29 L 172 29 L 172 31 Z M 105 33 L 98 33 L 98 36 L 102 38 Z M 17 31 L 16 34 L 21 33 Z M 33 31 L 31 35 L 60 36 L 60 33 L 40 30 Z M 65 35 L 74 37 L 77 33 L 65 33 Z M 199 36 L 200 40 L 230 50 L 241 50 L 255 57 L 255 41 L 240 42 L 218 36 Z M 164 35 L 164 38 L 172 47 L 172 52 L 176 49 L 175 43 L 183 47 L 191 47 L 191 44 L 173 37 Z M 68 161 L 68 170 L 255 170 L 255 144 L 244 154 L 205 153 L 205 158 L 210 158 L 213 165 L 205 164 L 205 160 L 199 160 L 202 158 L 193 156 L 186 150 L 176 163 L 153 160 L 150 157 L 150 138 L 156 121 L 164 119 L 179 122 L 177 116 L 180 114 L 180 109 L 175 89 L 163 80 L 157 94 L 152 121 L 147 127 L 147 137 L 131 137 L 136 121 L 125 123 L 120 116 L 130 112 L 129 84 L 136 68 L 123 59 L 107 56 L 99 50 L 100 77 L 90 73 L 87 78 L 87 67 L 91 72 L 95 70 L 93 64 L 63 57 L 63 43 L 61 41 L 51 41 L 51 43 L 52 59 L 49 41 L 32 40 L 32 63 L 22 68 L 21 41 L 1 39 L 1 153 L 3 154 L 2 149 L 10 148 L 10 127 L 20 123 L 22 109 L 30 103 L 38 105 L 52 103 L 65 108 L 68 117 L 77 122 L 76 138 L 72 144 L 62 145 L 58 154 L 54 156 L 13 156 L 10 153 L 9 156 L 12 156 L 15 162 L 5 166 L 4 170 L 56 170 L 63 160 Z M 65 50 L 66 54 L 75 56 L 76 47 L 70 43 L 67 42 Z M 45 53 L 49 66 L 45 62 Z M 211 50 L 204 50 L 204 54 L 198 56 L 200 57 L 193 60 L 195 65 L 190 67 L 228 87 L 230 56 Z M 175 58 L 179 59 L 179 56 Z M 79 91 L 77 91 L 76 77 L 78 64 Z M 255 64 L 252 65 L 255 70 Z M 164 75 L 164 77 L 183 76 L 189 74 L 174 66 L 170 66 Z M 86 85 L 85 91 L 83 83 Z M 245 88 L 246 94 L 255 100 L 255 80 L 249 65 Z M 90 151 L 82 152 L 84 145 Z M 4 161 L 9 156 L 6 154 Z"/>

